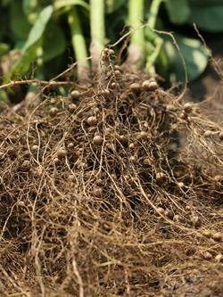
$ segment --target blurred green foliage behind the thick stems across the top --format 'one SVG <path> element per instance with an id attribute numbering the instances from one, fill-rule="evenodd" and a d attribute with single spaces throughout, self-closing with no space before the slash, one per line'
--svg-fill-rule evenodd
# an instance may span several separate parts
<path id="1" fill-rule="evenodd" d="M 127 32 L 128 4 L 128 0 L 104 0 L 105 44 L 114 43 Z M 152 29 L 174 33 L 186 62 L 188 79 L 198 78 L 207 66 L 210 52 L 193 24 L 201 33 L 222 32 L 223 1 L 145 0 L 142 24 L 150 21 L 152 5 L 158 9 Z M 50 79 L 75 62 L 72 44 L 75 28 L 71 28 L 69 21 L 74 7 L 88 49 L 91 42 L 89 1 L 0 0 L 2 84 L 21 78 Z M 72 26 L 75 24 L 76 21 Z M 155 70 L 170 82 L 184 80 L 183 63 L 172 38 L 146 26 L 144 34 L 145 70 Z M 0 96 L 4 99 L 7 95 L 1 91 Z"/>

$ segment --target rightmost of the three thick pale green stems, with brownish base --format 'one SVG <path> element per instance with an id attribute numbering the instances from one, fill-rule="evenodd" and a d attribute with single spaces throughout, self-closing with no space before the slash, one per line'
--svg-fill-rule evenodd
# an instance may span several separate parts
<path id="1" fill-rule="evenodd" d="M 145 57 L 145 36 L 142 21 L 144 20 L 144 0 L 128 1 L 128 24 L 136 30 L 128 48 L 128 63 L 136 69 L 140 68 Z"/>

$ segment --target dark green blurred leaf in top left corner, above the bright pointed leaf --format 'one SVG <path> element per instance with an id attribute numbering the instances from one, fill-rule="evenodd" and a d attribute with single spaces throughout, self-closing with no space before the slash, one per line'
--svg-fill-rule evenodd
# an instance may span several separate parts
<path id="1" fill-rule="evenodd" d="M 31 26 L 22 10 L 20 1 L 12 2 L 10 6 L 10 27 L 15 42 L 27 38 Z"/>

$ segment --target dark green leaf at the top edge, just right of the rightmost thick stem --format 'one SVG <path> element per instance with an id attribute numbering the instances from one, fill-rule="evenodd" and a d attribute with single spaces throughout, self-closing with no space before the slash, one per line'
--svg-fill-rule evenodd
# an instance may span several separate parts
<path id="1" fill-rule="evenodd" d="M 187 0 L 167 0 L 165 4 L 171 22 L 183 24 L 188 20 L 190 7 Z"/>

